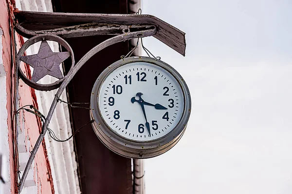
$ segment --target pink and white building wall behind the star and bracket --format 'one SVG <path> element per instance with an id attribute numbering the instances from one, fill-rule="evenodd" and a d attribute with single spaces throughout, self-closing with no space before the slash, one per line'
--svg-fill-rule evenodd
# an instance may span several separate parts
<path id="1" fill-rule="evenodd" d="M 7 181 L 0 181 L 0 194 L 15 194 L 16 181 L 19 170 L 20 177 L 28 162 L 41 131 L 41 123 L 36 115 L 20 111 L 17 127 L 14 118 L 14 91 L 15 66 L 12 64 L 12 29 L 10 26 L 10 9 L 28 11 L 52 11 L 50 0 L 0 0 L 0 154 L 7 157 L 3 166 L 7 168 Z M 8 9 L 9 8 L 9 9 Z M 12 12 L 11 12 L 12 13 Z M 23 44 L 22 37 L 16 34 L 17 50 Z M 53 51 L 58 50 L 58 45 L 50 43 Z M 37 53 L 39 45 L 27 49 L 26 54 Z M 21 69 L 27 77 L 31 77 L 32 69 L 26 64 L 21 64 Z M 44 78 L 41 83 L 54 81 Z M 17 108 L 24 105 L 34 105 L 44 115 L 47 114 L 56 91 L 38 92 L 19 80 Z M 66 100 L 66 95 L 62 98 Z M 58 105 L 55 115 L 49 126 L 60 139 L 66 139 L 72 130 L 69 123 L 69 112 L 66 105 Z M 46 135 L 45 140 L 37 151 L 32 168 L 24 183 L 21 194 L 79 194 L 77 176 L 77 163 L 73 151 L 73 142 L 55 143 Z"/>

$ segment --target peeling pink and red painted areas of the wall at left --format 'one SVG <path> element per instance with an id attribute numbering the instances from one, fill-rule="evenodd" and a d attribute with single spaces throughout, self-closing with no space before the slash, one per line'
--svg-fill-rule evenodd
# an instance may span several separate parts
<path id="1" fill-rule="evenodd" d="M 9 3 L 7 5 L 6 3 Z M 14 67 L 12 66 L 11 59 L 11 37 L 10 37 L 10 25 L 8 10 L 14 9 L 15 2 L 10 0 L 0 0 L 0 152 L 8 157 L 7 166 L 9 166 L 9 181 L 3 187 L 4 194 L 15 194 L 15 180 L 16 173 L 14 166 L 14 151 L 13 151 L 13 127 L 12 127 L 12 116 L 13 116 L 13 100 L 12 95 L 14 94 Z M 9 19 L 10 18 L 10 19 Z M 23 39 L 16 36 L 16 41 L 19 45 L 23 44 Z M 18 48 L 19 49 L 19 48 Z M 27 76 L 31 76 L 30 69 L 26 66 Z M 28 87 L 26 84 L 21 84 L 19 87 L 19 103 L 21 105 L 33 104 L 37 106 L 37 98 L 35 91 Z M 21 98 L 20 98 L 21 97 Z M 41 124 L 35 115 L 30 113 L 21 113 L 19 123 L 19 133 L 24 133 L 24 147 L 22 151 L 29 152 L 34 146 L 36 139 L 41 130 Z M 24 119 L 25 118 L 25 119 Z M 46 147 L 43 142 L 42 148 L 40 147 L 37 157 L 35 159 L 36 165 L 31 169 L 32 173 L 37 180 L 37 185 L 34 187 L 27 187 L 23 192 L 27 194 L 54 194 L 54 185 L 51 179 L 50 165 L 47 159 Z M 25 166 L 25 161 L 24 161 Z M 35 171 L 34 171 L 35 169 Z M 49 178 L 48 178 L 49 177 Z M 23 193 L 22 192 L 22 193 Z M 0 193 L 2 193 L 0 191 Z"/>

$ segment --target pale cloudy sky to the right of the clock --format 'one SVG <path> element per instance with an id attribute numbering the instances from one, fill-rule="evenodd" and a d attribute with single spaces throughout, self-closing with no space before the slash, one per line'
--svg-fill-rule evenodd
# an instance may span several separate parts
<path id="1" fill-rule="evenodd" d="M 147 194 L 292 194 L 292 1 L 143 0 L 186 32 L 186 57 L 147 49 L 186 80 L 181 141 L 146 160 Z"/>

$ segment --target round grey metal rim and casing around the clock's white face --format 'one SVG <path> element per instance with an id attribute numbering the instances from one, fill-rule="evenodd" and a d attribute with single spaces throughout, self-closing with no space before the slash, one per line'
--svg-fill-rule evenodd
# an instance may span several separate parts
<path id="1" fill-rule="evenodd" d="M 167 72 L 169 72 L 178 81 L 183 92 L 183 113 L 178 124 L 164 136 L 149 140 L 149 141 L 136 141 L 123 137 L 113 131 L 110 126 L 103 119 L 99 106 L 100 89 L 105 79 L 117 68 L 136 62 L 144 62 L 152 65 L 157 65 Z M 101 142 L 109 147 L 112 151 L 128 157 L 128 158 L 151 158 L 163 154 L 171 147 L 173 147 L 182 137 L 186 128 L 191 112 L 191 97 L 188 87 L 183 80 L 182 76 L 170 65 L 155 58 L 150 57 L 129 57 L 121 59 L 112 65 L 108 66 L 95 81 L 91 92 L 91 119 L 94 119 L 92 127 L 94 132 L 101 140 Z"/>

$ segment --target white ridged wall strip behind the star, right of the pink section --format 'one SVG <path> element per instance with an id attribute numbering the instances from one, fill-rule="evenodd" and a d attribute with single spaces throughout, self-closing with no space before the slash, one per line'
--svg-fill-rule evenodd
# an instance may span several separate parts
<path id="1" fill-rule="evenodd" d="M 18 10 L 53 12 L 51 0 L 16 0 Z M 59 52 L 59 45 L 48 41 L 54 52 Z M 36 54 L 40 42 L 29 47 L 26 50 L 27 55 Z M 30 68 L 33 72 L 33 68 Z M 38 81 L 41 84 L 53 83 L 57 79 L 51 76 L 45 76 Z M 55 97 L 56 90 L 49 92 L 35 91 L 38 110 L 47 115 L 51 103 Z M 67 101 L 64 92 L 61 98 Z M 70 116 L 67 104 L 58 104 L 49 125 L 59 139 L 67 139 L 72 134 Z M 45 136 L 45 143 L 48 153 L 48 160 L 51 165 L 51 174 L 54 183 L 55 194 L 80 194 L 79 179 L 77 173 L 77 162 L 74 152 L 73 139 L 68 142 L 55 142 L 48 134 Z"/>

